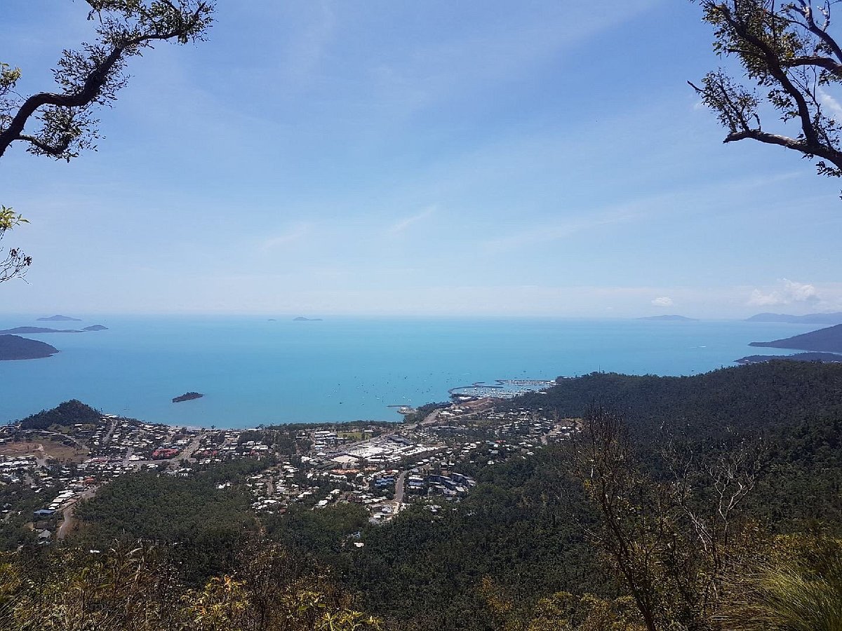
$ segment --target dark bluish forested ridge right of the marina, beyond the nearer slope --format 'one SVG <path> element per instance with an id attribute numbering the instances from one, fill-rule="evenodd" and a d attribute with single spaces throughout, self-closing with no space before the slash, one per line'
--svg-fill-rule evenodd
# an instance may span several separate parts
<path id="1" fill-rule="evenodd" d="M 644 435 L 669 426 L 688 437 L 727 437 L 842 416 L 840 391 L 842 365 L 772 361 L 691 377 L 592 373 L 558 379 L 546 394 L 523 395 L 508 406 L 542 407 L 562 417 L 604 406 Z"/>

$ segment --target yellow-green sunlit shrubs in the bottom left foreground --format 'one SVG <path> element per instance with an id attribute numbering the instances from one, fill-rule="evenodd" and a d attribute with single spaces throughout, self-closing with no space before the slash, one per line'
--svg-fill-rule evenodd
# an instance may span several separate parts
<path id="1" fill-rule="evenodd" d="M 8 631 L 362 631 L 375 618 L 319 569 L 271 544 L 195 588 L 168 549 L 148 544 L 0 556 Z"/>

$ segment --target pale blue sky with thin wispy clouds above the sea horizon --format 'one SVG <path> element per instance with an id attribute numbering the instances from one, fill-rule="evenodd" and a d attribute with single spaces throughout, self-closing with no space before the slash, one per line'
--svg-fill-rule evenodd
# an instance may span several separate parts
<path id="1" fill-rule="evenodd" d="M 86 6 L 3 0 L 20 93 Z M 722 144 L 711 40 L 680 0 L 220 0 L 131 60 L 98 151 L 0 159 L 35 258 L 0 313 L 842 310 L 842 182 Z"/>

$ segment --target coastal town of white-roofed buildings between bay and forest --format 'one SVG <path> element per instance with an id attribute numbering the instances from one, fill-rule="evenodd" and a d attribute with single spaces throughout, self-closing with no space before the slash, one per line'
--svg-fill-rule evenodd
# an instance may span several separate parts
<path id="1" fill-rule="evenodd" d="M 24 524 L 38 543 L 50 544 L 72 532 L 78 502 L 121 475 L 153 470 L 187 477 L 238 459 L 264 466 L 218 488 L 242 487 L 258 514 L 283 513 L 293 505 L 318 511 L 350 502 L 364 506 L 376 524 L 391 521 L 413 503 L 436 512 L 471 493 L 477 483 L 465 472 L 470 466 L 529 456 L 575 430 L 574 419 L 498 409 L 498 402 L 456 397 L 428 406 L 431 411 L 408 410 L 402 423 L 250 429 L 170 427 L 81 412 L 80 422 L 72 422 L 72 405 L 90 408 L 68 402 L 62 404 L 71 406 L 65 424 L 28 427 L 24 420 L 0 428 L 0 489 L 13 490 L 4 495 L 0 523 Z"/>

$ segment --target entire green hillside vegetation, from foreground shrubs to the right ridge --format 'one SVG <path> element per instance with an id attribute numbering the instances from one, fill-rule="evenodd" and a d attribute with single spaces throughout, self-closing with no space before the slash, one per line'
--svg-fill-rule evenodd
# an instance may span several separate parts
<path id="1" fill-rule="evenodd" d="M 257 461 L 126 475 L 67 545 L 4 558 L 0 624 L 725 631 L 762 611 L 762 628 L 838 628 L 820 603 L 842 602 L 839 392 L 842 366 L 818 363 L 560 379 L 500 406 L 582 417 L 573 439 L 462 463 L 462 501 L 378 526 L 350 504 L 254 514 L 237 480 Z M 802 608 L 776 610 L 795 589 Z"/>

